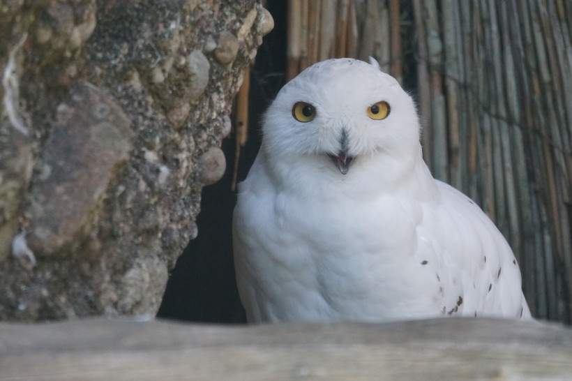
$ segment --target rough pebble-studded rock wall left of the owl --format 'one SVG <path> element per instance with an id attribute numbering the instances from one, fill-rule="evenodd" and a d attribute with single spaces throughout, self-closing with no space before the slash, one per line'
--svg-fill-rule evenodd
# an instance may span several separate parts
<path id="1" fill-rule="evenodd" d="M 156 312 L 272 26 L 255 0 L 0 1 L 1 320 Z"/>

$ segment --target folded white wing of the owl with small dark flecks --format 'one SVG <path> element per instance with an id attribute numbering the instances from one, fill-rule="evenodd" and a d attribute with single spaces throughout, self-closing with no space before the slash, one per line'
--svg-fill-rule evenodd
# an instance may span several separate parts
<path id="1" fill-rule="evenodd" d="M 501 232 L 469 197 L 441 181 L 437 188 L 439 202 L 423 205 L 417 255 L 439 280 L 442 313 L 530 317 L 518 263 Z"/>

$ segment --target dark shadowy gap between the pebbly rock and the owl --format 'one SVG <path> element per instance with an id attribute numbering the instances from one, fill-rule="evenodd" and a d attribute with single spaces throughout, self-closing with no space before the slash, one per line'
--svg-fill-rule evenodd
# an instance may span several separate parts
<path id="1" fill-rule="evenodd" d="M 250 72 L 249 136 L 241 150 L 238 179 L 242 181 L 260 145 L 260 121 L 285 82 L 286 1 L 267 1 L 275 27 L 264 37 Z M 190 241 L 173 269 L 158 317 L 193 322 L 246 322 L 232 261 L 232 192 L 234 133 L 223 141 L 227 170 L 218 183 L 202 190 L 199 235 Z"/>

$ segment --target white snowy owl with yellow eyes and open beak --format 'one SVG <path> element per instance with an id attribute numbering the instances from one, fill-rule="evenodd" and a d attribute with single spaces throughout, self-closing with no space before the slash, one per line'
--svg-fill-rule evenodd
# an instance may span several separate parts
<path id="1" fill-rule="evenodd" d="M 530 318 L 509 244 L 433 179 L 419 130 L 373 59 L 315 63 L 280 90 L 234 210 L 249 322 Z"/>

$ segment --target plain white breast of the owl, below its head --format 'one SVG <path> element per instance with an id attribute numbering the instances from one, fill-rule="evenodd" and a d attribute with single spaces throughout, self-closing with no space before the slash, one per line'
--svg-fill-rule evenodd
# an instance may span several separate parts
<path id="1" fill-rule="evenodd" d="M 268 200 L 241 197 L 245 211 L 257 205 L 250 228 L 235 226 L 243 248 L 235 253 L 237 282 L 250 320 L 380 321 L 439 314 L 437 278 L 423 271 L 411 244 L 418 239 L 419 205 L 383 196 L 311 199 L 297 191 Z"/>

